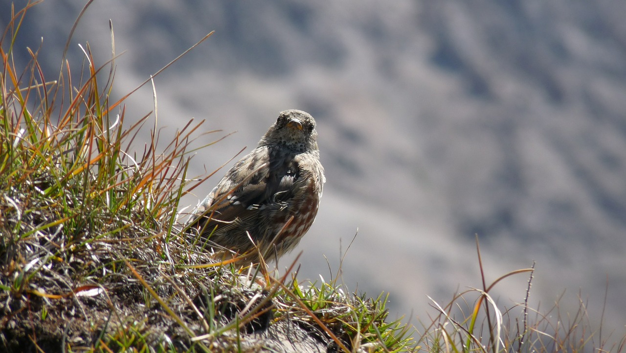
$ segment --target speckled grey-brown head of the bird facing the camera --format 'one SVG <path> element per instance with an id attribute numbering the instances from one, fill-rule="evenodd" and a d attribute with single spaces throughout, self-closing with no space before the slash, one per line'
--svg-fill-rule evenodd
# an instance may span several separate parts
<path id="1" fill-rule="evenodd" d="M 302 110 L 283 110 L 265 133 L 259 145 L 282 144 L 298 152 L 317 151 L 315 119 Z"/>

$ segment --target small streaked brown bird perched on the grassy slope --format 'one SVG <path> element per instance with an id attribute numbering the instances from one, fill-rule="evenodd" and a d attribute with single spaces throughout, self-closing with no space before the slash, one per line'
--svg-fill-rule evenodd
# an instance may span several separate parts
<path id="1" fill-rule="evenodd" d="M 247 263 L 278 258 L 313 224 L 324 182 L 315 119 L 285 110 L 193 211 L 190 228 Z"/>

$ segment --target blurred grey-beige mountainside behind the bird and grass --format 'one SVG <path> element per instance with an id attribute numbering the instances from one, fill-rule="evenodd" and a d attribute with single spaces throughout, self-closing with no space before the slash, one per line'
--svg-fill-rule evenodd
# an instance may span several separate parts
<path id="1" fill-rule="evenodd" d="M 56 78 L 84 5 L 34 6 L 16 60 L 42 46 L 44 74 Z M 0 4 L 0 28 L 10 8 Z M 111 19 L 120 98 L 215 30 L 155 79 L 163 141 L 192 118 L 224 130 L 205 142 L 238 131 L 195 156 L 194 176 L 249 152 L 280 110 L 316 117 L 324 198 L 280 261 L 304 251 L 300 278 L 336 275 L 357 233 L 346 285 L 389 291 L 395 313 L 429 322 L 426 295 L 447 303 L 481 286 L 478 234 L 488 281 L 537 261 L 531 303 L 543 308 L 565 291 L 561 307 L 575 310 L 580 293 L 597 321 L 608 280 L 605 329 L 622 334 L 624 18 L 619 0 L 96 0 L 67 58 L 79 67 L 78 44 L 89 43 L 105 64 Z M 146 86 L 126 120 L 151 110 Z M 223 172 L 183 204 L 195 206 Z M 527 280 L 508 278 L 494 295 L 523 302 Z"/>

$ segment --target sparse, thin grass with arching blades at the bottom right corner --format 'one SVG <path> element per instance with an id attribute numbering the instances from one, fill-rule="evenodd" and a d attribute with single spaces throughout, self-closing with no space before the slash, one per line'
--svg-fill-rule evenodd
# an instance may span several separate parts
<path id="1" fill-rule="evenodd" d="M 438 315 L 431 318 L 430 324 L 422 324 L 417 340 L 422 350 L 429 353 L 623 352 L 626 335 L 612 342 L 611 335 L 602 336 L 602 327 L 593 329 L 587 304 L 580 296 L 580 307 L 575 313 L 562 312 L 560 298 L 546 311 L 531 308 L 528 300 L 534 263 L 530 268 L 506 273 L 486 285 L 478 238 L 476 249 L 482 288 L 458 293 L 445 306 L 430 298 Z M 498 305 L 490 291 L 501 280 L 521 273 L 530 273 L 524 302 L 511 303 L 510 307 Z"/>

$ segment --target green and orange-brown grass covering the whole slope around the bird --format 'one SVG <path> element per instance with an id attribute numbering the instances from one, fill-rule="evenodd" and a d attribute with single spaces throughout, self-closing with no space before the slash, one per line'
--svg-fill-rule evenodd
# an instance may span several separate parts
<path id="1" fill-rule="evenodd" d="M 510 308 L 489 295 L 500 279 L 433 300 L 438 315 L 415 330 L 388 319 L 386 295 L 349 293 L 339 277 L 302 285 L 294 265 L 277 277 L 218 262 L 177 213 L 208 178 L 187 176 L 191 146 L 216 136 L 210 149 L 217 132 L 190 121 L 163 144 L 150 127 L 156 100 L 126 119 L 135 90 L 111 98 L 114 50 L 98 65 L 86 45 L 83 65 L 65 61 L 51 80 L 38 51 L 18 67 L 14 40 L 33 5 L 13 12 L 0 40 L 0 350 L 622 352 L 625 338 L 609 344 L 583 302 L 573 316 L 558 303 L 531 309 L 531 279 Z M 142 129 L 151 139 L 137 149 Z M 521 273 L 533 270 L 501 278 Z"/>

